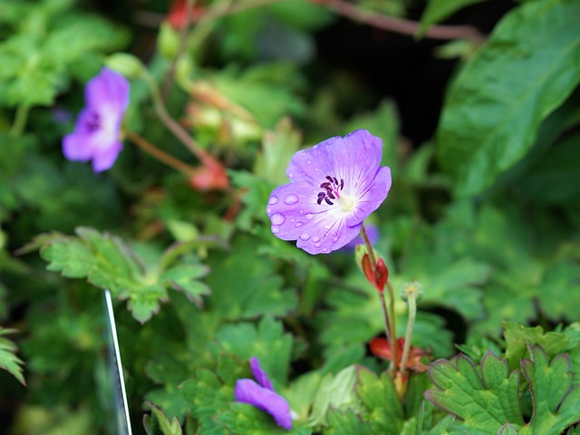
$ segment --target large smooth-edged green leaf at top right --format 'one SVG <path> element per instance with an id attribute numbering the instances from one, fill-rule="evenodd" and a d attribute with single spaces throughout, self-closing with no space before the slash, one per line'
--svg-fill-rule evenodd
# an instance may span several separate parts
<path id="1" fill-rule="evenodd" d="M 451 85 L 437 134 L 441 166 L 457 179 L 455 193 L 491 186 L 521 160 L 540 123 L 580 81 L 575 0 L 517 6 Z"/>

